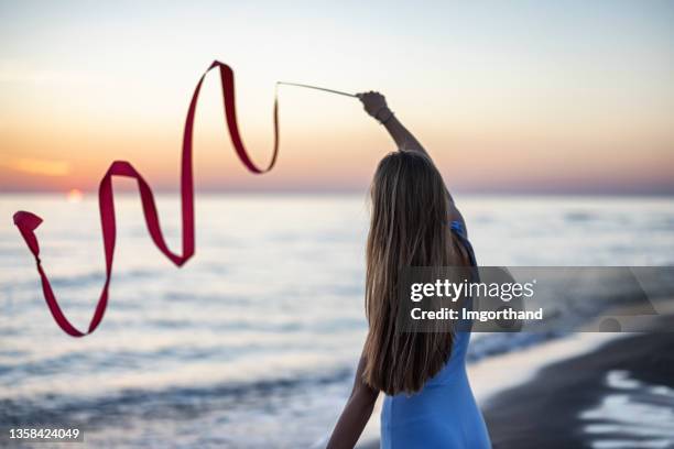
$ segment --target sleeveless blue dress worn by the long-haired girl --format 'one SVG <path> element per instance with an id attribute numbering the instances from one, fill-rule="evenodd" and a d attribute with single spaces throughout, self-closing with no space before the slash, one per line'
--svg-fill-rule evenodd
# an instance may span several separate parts
<path id="1" fill-rule="evenodd" d="M 460 221 L 452 230 L 476 266 L 472 248 Z M 423 388 L 384 397 L 381 410 L 383 449 L 489 449 L 489 434 L 466 373 L 470 332 L 456 332 L 452 355 Z"/>

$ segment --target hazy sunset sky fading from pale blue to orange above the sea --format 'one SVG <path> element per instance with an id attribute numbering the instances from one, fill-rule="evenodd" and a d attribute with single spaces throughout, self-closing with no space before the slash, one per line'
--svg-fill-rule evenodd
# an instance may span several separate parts
<path id="1" fill-rule="evenodd" d="M 95 191 L 113 160 L 175 190 L 219 59 L 261 165 L 286 80 L 381 91 L 458 191 L 674 194 L 672 1 L 0 0 L 0 42 L 3 193 Z M 395 150 L 358 100 L 281 87 L 279 163 L 253 176 L 220 101 L 211 76 L 198 189 L 362 190 Z"/>

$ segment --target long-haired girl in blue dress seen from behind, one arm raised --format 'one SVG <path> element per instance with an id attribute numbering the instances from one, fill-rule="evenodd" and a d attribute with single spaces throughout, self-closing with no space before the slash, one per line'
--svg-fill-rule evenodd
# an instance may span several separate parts
<path id="1" fill-rule="evenodd" d="M 367 242 L 369 331 L 351 395 L 328 449 L 352 448 L 379 392 L 382 448 L 489 448 L 466 375 L 469 332 L 396 331 L 399 272 L 405 266 L 475 265 L 464 219 L 428 153 L 378 92 L 358 96 L 399 151 L 377 167 Z"/>

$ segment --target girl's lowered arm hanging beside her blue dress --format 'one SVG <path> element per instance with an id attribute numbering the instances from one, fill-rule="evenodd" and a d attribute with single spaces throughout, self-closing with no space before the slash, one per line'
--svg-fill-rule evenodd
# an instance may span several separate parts
<path id="1" fill-rule="evenodd" d="M 366 361 L 361 357 L 354 379 L 351 395 L 335 425 L 326 449 L 352 449 L 372 415 L 379 392 L 362 382 Z"/>

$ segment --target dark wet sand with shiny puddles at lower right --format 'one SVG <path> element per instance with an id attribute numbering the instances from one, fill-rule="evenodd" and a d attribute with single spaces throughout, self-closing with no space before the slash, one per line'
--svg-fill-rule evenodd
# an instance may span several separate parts
<path id="1" fill-rule="evenodd" d="M 674 317 L 661 317 L 674 330 Z M 621 335 L 483 407 L 496 449 L 674 448 L 674 331 Z"/>

